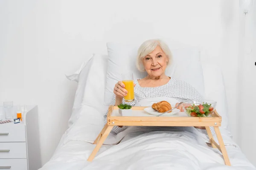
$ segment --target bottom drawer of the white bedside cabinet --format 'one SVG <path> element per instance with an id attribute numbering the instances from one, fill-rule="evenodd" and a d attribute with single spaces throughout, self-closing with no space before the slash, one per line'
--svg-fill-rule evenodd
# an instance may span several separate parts
<path id="1" fill-rule="evenodd" d="M 0 170 L 28 170 L 26 159 L 0 159 Z"/>

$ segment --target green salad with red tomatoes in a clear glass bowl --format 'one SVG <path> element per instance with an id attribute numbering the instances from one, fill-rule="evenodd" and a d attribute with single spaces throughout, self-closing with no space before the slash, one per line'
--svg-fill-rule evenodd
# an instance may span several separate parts
<path id="1" fill-rule="evenodd" d="M 213 111 L 211 104 L 191 105 L 185 107 L 186 112 L 192 117 L 207 117 Z"/>

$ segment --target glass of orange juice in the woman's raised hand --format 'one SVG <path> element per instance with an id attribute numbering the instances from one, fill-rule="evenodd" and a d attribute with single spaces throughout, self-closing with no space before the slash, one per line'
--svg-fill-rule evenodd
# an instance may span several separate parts
<path id="1" fill-rule="evenodd" d="M 125 102 L 134 101 L 133 73 L 122 74 L 122 82 L 125 84 L 125 89 L 128 91 L 127 96 L 124 96 Z"/>

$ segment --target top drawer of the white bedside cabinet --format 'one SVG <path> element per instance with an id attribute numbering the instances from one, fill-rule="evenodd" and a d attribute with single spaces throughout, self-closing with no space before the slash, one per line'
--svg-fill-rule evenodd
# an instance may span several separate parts
<path id="1" fill-rule="evenodd" d="M 0 124 L 0 142 L 26 142 L 25 126 Z"/>

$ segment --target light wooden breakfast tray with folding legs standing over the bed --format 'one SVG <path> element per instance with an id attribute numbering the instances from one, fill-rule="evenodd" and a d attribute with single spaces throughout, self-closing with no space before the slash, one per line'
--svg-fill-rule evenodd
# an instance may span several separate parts
<path id="1" fill-rule="evenodd" d="M 179 112 L 177 115 L 172 116 L 154 116 L 146 113 L 144 108 L 147 107 L 132 107 L 132 116 L 122 116 L 118 113 L 118 107 L 110 105 L 108 108 L 107 124 L 103 127 L 98 137 L 95 139 L 93 144 L 96 144 L 93 152 L 87 159 L 87 161 L 93 161 L 99 148 L 102 146 L 108 134 L 112 128 L 116 126 L 203 126 L 206 128 L 209 136 L 209 141 L 212 147 L 218 148 L 224 157 L 226 165 L 230 166 L 230 160 L 227 155 L 219 126 L 221 126 L 221 116 L 216 110 L 212 113 L 211 117 L 189 117 L 184 112 Z M 219 145 L 215 142 L 212 137 L 210 126 L 214 127 Z"/>

